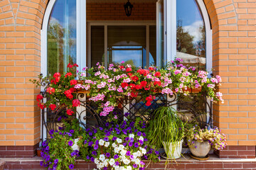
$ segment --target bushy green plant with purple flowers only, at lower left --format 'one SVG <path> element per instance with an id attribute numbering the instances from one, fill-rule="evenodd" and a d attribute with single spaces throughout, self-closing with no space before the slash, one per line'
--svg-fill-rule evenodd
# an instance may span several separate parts
<path id="1" fill-rule="evenodd" d="M 42 143 L 41 166 L 46 169 L 74 169 L 75 160 L 80 157 L 78 150 L 73 150 L 74 139 L 79 136 L 81 128 L 76 119 L 69 124 L 63 119 L 64 128 L 50 130 L 50 139 Z"/>

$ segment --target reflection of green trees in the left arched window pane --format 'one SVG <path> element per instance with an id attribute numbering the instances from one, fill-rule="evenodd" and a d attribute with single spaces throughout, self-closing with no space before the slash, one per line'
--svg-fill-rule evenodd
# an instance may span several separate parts
<path id="1" fill-rule="evenodd" d="M 68 31 L 68 47 L 65 47 L 65 31 Z M 58 22 L 49 23 L 48 26 L 48 75 L 55 72 L 66 72 L 64 57 L 68 55 L 68 62 L 74 64 L 75 57 L 72 56 L 72 49 L 75 46 L 75 38 L 71 38 L 74 28 L 70 24 L 67 28 L 63 28 Z M 65 48 L 68 48 L 68 54 L 65 54 Z"/>

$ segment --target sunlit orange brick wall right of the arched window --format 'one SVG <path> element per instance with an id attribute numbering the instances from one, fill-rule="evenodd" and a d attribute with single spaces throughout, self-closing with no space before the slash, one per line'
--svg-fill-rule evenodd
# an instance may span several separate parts
<path id="1" fill-rule="evenodd" d="M 256 1 L 205 0 L 213 27 L 213 69 L 223 77 L 225 103 L 214 105 L 215 125 L 228 145 L 256 145 Z"/>

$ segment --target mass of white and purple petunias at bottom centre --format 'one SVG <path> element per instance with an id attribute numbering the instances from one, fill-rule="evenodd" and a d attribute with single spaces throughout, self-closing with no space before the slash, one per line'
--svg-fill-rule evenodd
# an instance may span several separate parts
<path id="1" fill-rule="evenodd" d="M 90 139 L 80 142 L 80 147 L 89 149 L 84 150 L 82 158 L 94 162 L 97 169 L 143 170 L 142 159 L 159 161 L 159 152 L 148 145 L 146 124 L 141 118 L 135 122 L 124 120 L 119 125 L 106 123 L 104 128 L 86 131 Z"/>

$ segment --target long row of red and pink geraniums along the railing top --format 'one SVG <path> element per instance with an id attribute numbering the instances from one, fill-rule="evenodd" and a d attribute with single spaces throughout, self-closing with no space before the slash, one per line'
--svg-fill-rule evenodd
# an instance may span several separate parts
<path id="1" fill-rule="evenodd" d="M 223 101 L 222 94 L 215 89 L 221 82 L 221 78 L 208 78 L 208 72 L 196 71 L 196 67 L 188 67 L 181 64 L 182 60 L 176 58 L 169 62 L 163 69 L 149 67 L 142 69 L 127 64 L 110 64 L 108 68 L 99 63 L 97 67 L 83 68 L 78 75 L 75 73 L 78 64 L 68 64 L 69 72 L 66 74 L 55 73 L 53 77 L 41 77 L 40 80 L 31 80 L 38 86 L 44 81 L 46 86 L 46 103 L 41 102 L 43 96 L 38 95 L 38 106 L 58 111 L 65 107 L 68 115 L 75 113 L 75 108 L 80 106 L 75 92 L 80 90 L 90 91 L 89 100 L 97 105 L 97 113 L 101 116 L 109 115 L 110 121 L 117 119 L 112 113 L 118 106 L 119 99 L 135 98 L 138 95 L 150 106 L 161 94 L 188 94 L 188 89 L 197 89 L 206 94 L 212 101 Z M 78 76 L 76 80 L 75 77 Z"/>

